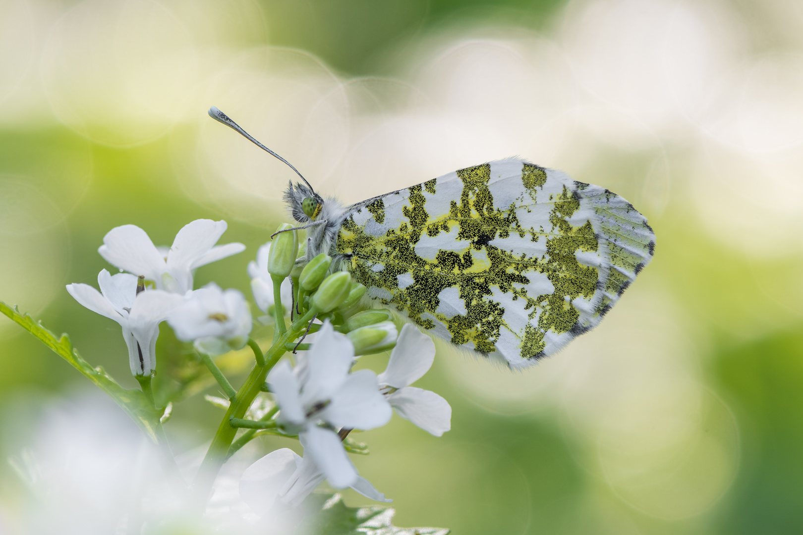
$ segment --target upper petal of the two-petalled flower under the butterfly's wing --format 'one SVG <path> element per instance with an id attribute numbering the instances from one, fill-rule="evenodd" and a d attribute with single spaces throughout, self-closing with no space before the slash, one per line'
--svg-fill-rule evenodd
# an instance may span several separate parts
<path id="1" fill-rule="evenodd" d="M 432 338 L 407 323 L 390 353 L 387 369 L 379 375 L 379 383 L 395 388 L 406 387 L 429 371 L 434 358 Z"/>

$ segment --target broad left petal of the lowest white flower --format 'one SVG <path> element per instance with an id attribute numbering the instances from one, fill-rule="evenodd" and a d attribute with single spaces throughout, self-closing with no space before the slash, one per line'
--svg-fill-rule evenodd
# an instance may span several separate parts
<path id="1" fill-rule="evenodd" d="M 277 449 L 251 464 L 240 479 L 240 497 L 260 517 L 268 513 L 279 490 L 296 472 L 296 455 L 287 448 Z"/>

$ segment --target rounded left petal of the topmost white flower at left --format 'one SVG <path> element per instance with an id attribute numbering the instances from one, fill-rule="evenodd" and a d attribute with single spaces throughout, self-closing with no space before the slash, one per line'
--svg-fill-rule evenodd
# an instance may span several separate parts
<path id="1" fill-rule="evenodd" d="M 134 275 L 145 275 L 157 285 L 165 272 L 165 260 L 145 230 L 137 225 L 115 227 L 103 237 L 98 253 L 109 264 Z"/>

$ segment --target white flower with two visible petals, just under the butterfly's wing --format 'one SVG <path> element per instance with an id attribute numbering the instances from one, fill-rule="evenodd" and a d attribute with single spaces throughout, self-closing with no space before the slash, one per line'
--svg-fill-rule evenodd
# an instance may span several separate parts
<path id="1" fill-rule="evenodd" d="M 409 386 L 429 371 L 434 358 L 432 339 L 408 323 L 390 353 L 387 369 L 377 379 L 398 415 L 434 436 L 442 436 L 451 429 L 449 403 L 432 391 Z"/>

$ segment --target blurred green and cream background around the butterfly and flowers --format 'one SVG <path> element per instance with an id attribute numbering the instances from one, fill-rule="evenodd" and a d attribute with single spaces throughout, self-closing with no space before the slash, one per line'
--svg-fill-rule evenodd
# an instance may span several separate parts
<path id="1" fill-rule="evenodd" d="M 249 294 L 292 173 L 210 105 L 345 202 L 520 155 L 633 202 L 656 256 L 538 367 L 438 344 L 417 386 L 453 430 L 394 417 L 355 459 L 397 525 L 801 533 L 801 30 L 794 0 L 0 0 L 0 299 L 133 387 L 119 327 L 64 290 L 111 267 L 109 229 L 225 219 L 247 251 L 196 287 Z M 90 388 L 0 318 L 3 456 Z M 221 415 L 178 405 L 176 448 Z M 27 533 L 20 488 L 0 465 L 0 533 Z"/>

